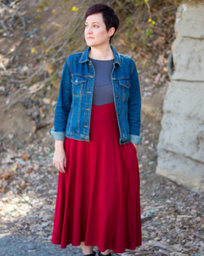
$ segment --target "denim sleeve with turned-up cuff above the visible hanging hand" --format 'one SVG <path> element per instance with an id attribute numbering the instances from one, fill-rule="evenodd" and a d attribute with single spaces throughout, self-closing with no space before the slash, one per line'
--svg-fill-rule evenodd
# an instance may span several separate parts
<path id="1" fill-rule="evenodd" d="M 65 127 L 71 109 L 71 70 L 68 57 L 60 80 L 59 96 L 54 113 L 54 130 L 49 131 L 54 140 L 65 140 Z"/>

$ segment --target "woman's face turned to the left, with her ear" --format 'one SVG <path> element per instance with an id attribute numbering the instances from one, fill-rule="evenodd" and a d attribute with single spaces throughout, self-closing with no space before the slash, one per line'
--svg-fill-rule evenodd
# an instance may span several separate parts
<path id="1" fill-rule="evenodd" d="M 114 27 L 111 27 L 109 32 L 106 31 L 101 13 L 89 15 L 85 21 L 84 37 L 90 47 L 109 44 L 109 40 L 114 32 Z"/>

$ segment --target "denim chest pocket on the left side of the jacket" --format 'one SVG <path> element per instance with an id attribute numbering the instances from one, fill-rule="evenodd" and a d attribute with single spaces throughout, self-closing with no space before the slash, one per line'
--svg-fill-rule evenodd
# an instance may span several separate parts
<path id="1" fill-rule="evenodd" d="M 81 75 L 73 75 L 71 78 L 73 96 L 82 96 L 85 90 L 87 78 Z"/>

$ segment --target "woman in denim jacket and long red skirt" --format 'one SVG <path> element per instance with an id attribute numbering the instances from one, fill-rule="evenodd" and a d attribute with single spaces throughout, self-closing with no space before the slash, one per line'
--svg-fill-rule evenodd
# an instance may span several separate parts
<path id="1" fill-rule="evenodd" d="M 95 4 L 85 19 L 88 49 L 66 58 L 50 130 L 59 170 L 52 242 L 111 255 L 142 243 L 139 79 L 134 61 L 111 45 L 114 10 Z"/>

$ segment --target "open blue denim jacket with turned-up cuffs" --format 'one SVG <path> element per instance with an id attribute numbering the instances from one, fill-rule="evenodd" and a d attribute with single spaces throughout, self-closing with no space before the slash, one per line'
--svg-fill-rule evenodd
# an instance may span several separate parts
<path id="1" fill-rule="evenodd" d="M 88 59 L 90 47 L 68 56 L 59 87 L 54 115 L 54 140 L 70 137 L 89 142 L 95 71 Z M 134 61 L 111 45 L 114 54 L 111 81 L 116 117 L 120 131 L 119 143 L 139 144 L 141 96 L 139 77 Z"/>

